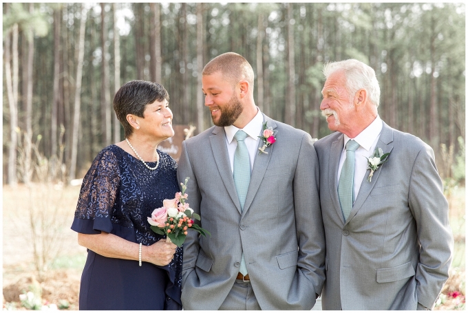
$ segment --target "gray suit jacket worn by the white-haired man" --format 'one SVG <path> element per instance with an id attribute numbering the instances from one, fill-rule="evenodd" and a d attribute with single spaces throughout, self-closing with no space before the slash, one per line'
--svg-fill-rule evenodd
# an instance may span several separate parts
<path id="1" fill-rule="evenodd" d="M 377 147 L 391 152 L 367 171 L 344 222 L 337 193 L 343 134 L 315 142 L 326 232 L 324 310 L 432 307 L 448 278 L 453 237 L 434 151 L 383 123 Z M 373 152 L 373 151 L 372 151 Z"/>

